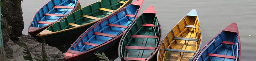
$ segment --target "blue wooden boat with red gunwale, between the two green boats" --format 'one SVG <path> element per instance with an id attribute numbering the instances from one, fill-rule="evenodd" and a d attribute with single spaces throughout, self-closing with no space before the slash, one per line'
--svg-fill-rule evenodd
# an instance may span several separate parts
<path id="1" fill-rule="evenodd" d="M 96 57 L 96 51 L 101 53 L 117 46 L 121 36 L 137 18 L 142 2 L 135 1 L 91 26 L 71 45 L 63 59 L 85 61 Z"/>

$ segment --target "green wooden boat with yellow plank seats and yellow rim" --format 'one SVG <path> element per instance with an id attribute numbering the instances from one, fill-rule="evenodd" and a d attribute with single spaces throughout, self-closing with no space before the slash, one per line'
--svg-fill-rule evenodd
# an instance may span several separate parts
<path id="1" fill-rule="evenodd" d="M 132 0 L 100 0 L 58 20 L 37 36 L 42 37 L 46 43 L 77 38 L 99 20 L 131 2 Z"/>

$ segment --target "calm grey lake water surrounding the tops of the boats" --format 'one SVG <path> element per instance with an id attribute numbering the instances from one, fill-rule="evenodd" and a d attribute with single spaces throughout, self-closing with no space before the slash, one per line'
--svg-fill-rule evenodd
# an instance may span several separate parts
<path id="1" fill-rule="evenodd" d="M 22 2 L 25 28 L 34 14 L 49 0 L 24 0 Z M 98 0 L 80 0 L 87 6 Z M 241 61 L 256 59 L 256 0 L 144 0 L 140 14 L 153 5 L 165 36 L 189 11 L 196 9 L 202 30 L 202 46 L 232 22 L 238 25 L 241 40 Z M 162 37 L 163 38 L 163 37 Z"/>

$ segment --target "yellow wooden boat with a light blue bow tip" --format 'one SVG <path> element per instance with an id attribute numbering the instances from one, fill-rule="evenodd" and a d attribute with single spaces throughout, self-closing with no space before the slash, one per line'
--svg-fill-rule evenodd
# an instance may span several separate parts
<path id="1" fill-rule="evenodd" d="M 158 61 L 193 60 L 201 45 L 199 23 L 196 10 L 191 10 L 162 40 L 157 55 Z"/>

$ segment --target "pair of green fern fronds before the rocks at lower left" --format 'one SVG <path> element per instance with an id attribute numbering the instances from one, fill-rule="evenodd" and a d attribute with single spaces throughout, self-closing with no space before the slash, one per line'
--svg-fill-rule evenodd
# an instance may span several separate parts
<path id="1" fill-rule="evenodd" d="M 24 58 L 25 60 L 28 60 L 28 61 L 33 61 L 32 56 L 31 56 L 31 54 L 30 54 L 30 51 L 29 51 L 29 48 L 28 48 L 27 44 L 26 44 L 24 41 L 22 41 L 21 43 L 22 43 L 23 48 L 24 48 L 23 53 L 25 54 L 25 55 L 23 56 L 23 58 Z M 47 55 L 46 55 L 47 53 L 46 53 L 46 51 L 45 51 L 45 49 L 44 49 L 44 43 L 45 43 L 45 40 L 43 40 L 43 43 L 42 43 L 42 58 L 40 58 L 40 60 L 39 60 L 39 59 L 37 59 L 37 58 L 34 57 L 34 59 L 35 59 L 36 61 L 48 61 L 48 58 L 47 58 Z"/>

